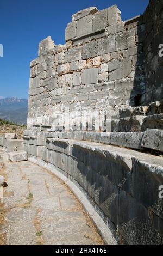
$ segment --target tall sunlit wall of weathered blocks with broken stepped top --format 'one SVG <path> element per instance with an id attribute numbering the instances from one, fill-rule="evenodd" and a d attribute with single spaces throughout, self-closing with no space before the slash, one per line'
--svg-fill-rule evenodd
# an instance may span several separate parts
<path id="1" fill-rule="evenodd" d="M 40 42 L 30 64 L 28 128 L 114 130 L 97 120 L 118 119 L 144 92 L 144 29 L 142 16 L 122 22 L 116 5 L 92 7 L 72 16 L 65 45 L 51 37 Z"/>

